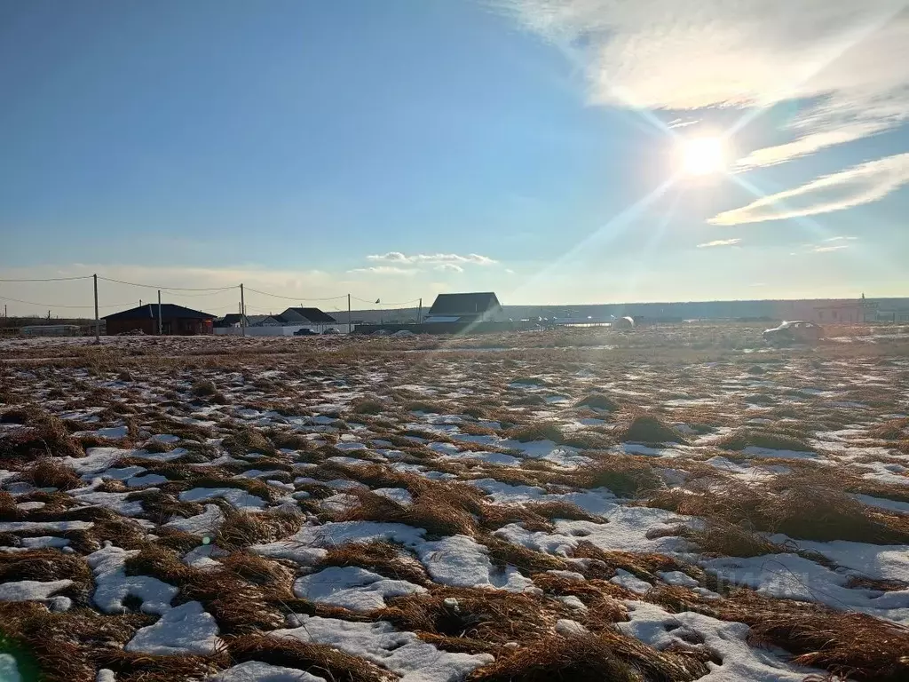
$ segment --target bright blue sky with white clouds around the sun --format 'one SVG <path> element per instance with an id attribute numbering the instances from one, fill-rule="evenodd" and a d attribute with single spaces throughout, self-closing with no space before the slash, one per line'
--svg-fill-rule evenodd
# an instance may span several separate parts
<path id="1" fill-rule="evenodd" d="M 102 315 L 909 296 L 907 5 L 0 3 L 0 280 L 97 273 Z"/>

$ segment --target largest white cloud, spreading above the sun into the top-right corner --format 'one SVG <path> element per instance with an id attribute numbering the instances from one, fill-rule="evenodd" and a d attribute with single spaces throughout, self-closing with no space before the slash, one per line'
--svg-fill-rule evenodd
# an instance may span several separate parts
<path id="1" fill-rule="evenodd" d="M 604 105 L 666 110 L 792 103 L 773 165 L 909 118 L 905 0 L 499 0 L 588 75 Z"/>

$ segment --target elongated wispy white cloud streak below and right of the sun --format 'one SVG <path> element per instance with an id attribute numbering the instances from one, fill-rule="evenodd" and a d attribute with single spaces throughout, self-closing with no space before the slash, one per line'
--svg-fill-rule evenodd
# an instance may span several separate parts
<path id="1" fill-rule="evenodd" d="M 794 189 L 764 196 L 748 206 L 724 211 L 708 222 L 741 225 L 815 216 L 877 201 L 906 183 L 909 183 L 909 154 L 886 156 L 819 177 Z"/>

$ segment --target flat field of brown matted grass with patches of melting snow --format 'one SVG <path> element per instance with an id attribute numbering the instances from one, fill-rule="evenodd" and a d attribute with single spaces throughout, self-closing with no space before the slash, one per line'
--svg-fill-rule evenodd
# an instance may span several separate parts
<path id="1" fill-rule="evenodd" d="M 0 342 L 0 680 L 909 679 L 909 337 Z"/>

